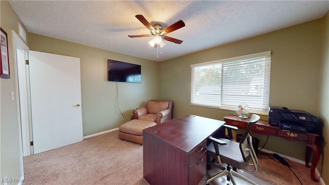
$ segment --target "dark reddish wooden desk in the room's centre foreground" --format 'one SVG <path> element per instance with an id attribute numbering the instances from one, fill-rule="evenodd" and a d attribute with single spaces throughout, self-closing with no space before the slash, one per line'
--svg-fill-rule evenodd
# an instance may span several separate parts
<path id="1" fill-rule="evenodd" d="M 206 174 L 207 138 L 225 122 L 193 115 L 143 130 L 143 176 L 150 184 L 197 184 Z"/>

